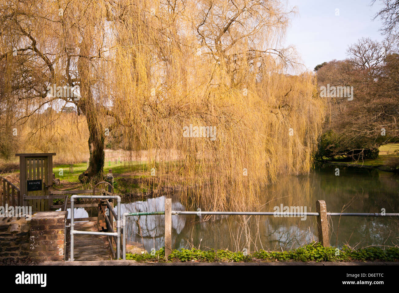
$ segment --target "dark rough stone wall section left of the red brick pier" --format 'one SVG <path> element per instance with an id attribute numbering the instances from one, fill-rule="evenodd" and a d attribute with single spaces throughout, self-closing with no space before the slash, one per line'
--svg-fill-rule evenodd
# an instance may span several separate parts
<path id="1" fill-rule="evenodd" d="M 0 217 L 0 260 L 26 260 L 29 252 L 29 222 L 25 218 Z"/>

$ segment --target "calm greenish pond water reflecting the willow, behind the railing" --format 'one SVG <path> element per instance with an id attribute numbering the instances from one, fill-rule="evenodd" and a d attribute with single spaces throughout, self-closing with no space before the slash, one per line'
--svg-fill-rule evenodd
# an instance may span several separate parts
<path id="1" fill-rule="evenodd" d="M 316 200 L 324 199 L 331 212 L 398 213 L 399 176 L 376 169 L 355 169 L 322 165 L 307 175 L 281 176 L 262 193 L 259 211 L 274 211 L 273 207 L 304 206 L 316 211 Z M 186 210 L 172 196 L 172 210 Z M 115 208 L 116 209 L 116 208 Z M 122 204 L 124 212 L 164 211 L 164 197 Z M 194 209 L 190 209 L 194 210 Z M 195 209 L 196 210 L 196 209 Z M 399 245 L 399 218 L 332 217 L 330 244 L 341 247 L 369 245 Z M 174 249 L 229 249 L 249 251 L 259 249 L 288 250 L 317 240 L 316 217 L 223 216 L 206 219 L 198 215 L 172 215 L 172 245 Z M 143 246 L 147 251 L 164 246 L 164 215 L 128 217 L 128 243 Z"/>

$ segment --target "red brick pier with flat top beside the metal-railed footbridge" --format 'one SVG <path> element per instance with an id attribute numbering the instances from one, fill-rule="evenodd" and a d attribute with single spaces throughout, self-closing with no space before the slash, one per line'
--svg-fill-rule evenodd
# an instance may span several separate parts
<path id="1" fill-rule="evenodd" d="M 63 261 L 67 211 L 38 212 L 30 221 L 31 261 Z"/>

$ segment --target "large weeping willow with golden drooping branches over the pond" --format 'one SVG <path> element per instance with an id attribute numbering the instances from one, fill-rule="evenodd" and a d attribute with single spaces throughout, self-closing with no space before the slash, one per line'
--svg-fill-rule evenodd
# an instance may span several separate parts
<path id="1" fill-rule="evenodd" d="M 277 174 L 310 169 L 324 102 L 282 46 L 294 11 L 281 1 L 0 3 L 7 113 L 45 136 L 51 118 L 33 114 L 74 104 L 89 130 L 82 180 L 101 175 L 115 131 L 132 157 L 148 153 L 148 181 L 209 209 L 251 208 Z"/>

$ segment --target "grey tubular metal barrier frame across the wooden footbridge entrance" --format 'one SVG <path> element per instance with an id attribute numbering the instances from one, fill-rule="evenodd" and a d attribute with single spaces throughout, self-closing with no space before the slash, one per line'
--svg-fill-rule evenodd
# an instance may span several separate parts
<path id="1" fill-rule="evenodd" d="M 96 231 L 79 231 L 79 230 L 74 230 L 73 227 L 75 226 L 74 222 L 74 205 L 75 205 L 75 198 L 89 198 L 89 199 L 117 199 L 118 202 L 118 207 L 117 207 L 117 232 L 111 233 L 111 232 L 96 232 Z M 121 221 L 120 221 L 120 196 L 119 195 L 72 195 L 71 196 L 71 223 L 69 224 L 70 226 L 70 235 L 71 235 L 71 258 L 70 261 L 74 261 L 75 259 L 73 258 L 73 241 L 74 241 L 74 235 L 75 234 L 86 234 L 86 235 L 105 235 L 105 236 L 116 236 L 117 237 L 117 259 L 120 258 L 120 227 L 121 227 Z"/>

